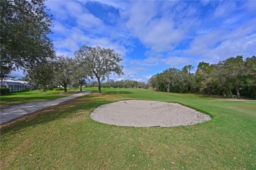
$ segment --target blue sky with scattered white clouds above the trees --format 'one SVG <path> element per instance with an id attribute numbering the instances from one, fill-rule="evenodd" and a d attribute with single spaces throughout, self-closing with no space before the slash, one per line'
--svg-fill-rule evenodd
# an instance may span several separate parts
<path id="1" fill-rule="evenodd" d="M 125 75 L 147 81 L 169 67 L 256 55 L 256 1 L 47 1 L 58 55 L 113 48 Z M 117 77 L 112 77 L 117 79 Z"/>

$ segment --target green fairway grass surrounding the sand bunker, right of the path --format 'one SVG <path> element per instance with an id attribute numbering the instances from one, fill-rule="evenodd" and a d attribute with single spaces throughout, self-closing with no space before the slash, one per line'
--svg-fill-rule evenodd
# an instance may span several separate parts
<path id="1" fill-rule="evenodd" d="M 1 127 L 1 169 L 256 169 L 256 101 L 141 89 L 102 92 Z M 121 99 L 182 103 L 213 119 L 193 126 L 120 127 L 89 117 L 96 107 Z"/>

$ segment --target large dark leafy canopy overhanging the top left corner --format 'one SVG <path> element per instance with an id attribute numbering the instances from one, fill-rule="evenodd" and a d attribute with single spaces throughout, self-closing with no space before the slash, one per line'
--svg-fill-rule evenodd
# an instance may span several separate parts
<path id="1" fill-rule="evenodd" d="M 47 37 L 53 21 L 44 1 L 0 1 L 1 75 L 54 58 L 53 42 Z"/>

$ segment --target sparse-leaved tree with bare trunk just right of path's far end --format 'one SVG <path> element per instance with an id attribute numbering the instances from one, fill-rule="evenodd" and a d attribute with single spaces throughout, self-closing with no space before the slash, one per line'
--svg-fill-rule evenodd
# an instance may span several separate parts
<path id="1" fill-rule="evenodd" d="M 120 54 L 112 49 L 83 45 L 75 52 L 75 58 L 87 67 L 91 78 L 97 78 L 99 93 L 101 93 L 100 82 L 106 77 L 108 78 L 112 73 L 123 75 L 123 66 L 119 65 L 119 62 L 122 61 Z"/>

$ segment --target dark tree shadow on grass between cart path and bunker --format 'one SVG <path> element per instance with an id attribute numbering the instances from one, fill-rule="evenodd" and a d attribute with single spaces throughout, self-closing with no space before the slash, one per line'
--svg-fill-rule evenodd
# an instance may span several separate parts
<path id="1" fill-rule="evenodd" d="M 28 127 L 40 126 L 56 120 L 69 118 L 74 116 L 74 113 L 79 110 L 92 110 L 107 103 L 111 103 L 111 101 L 84 102 L 73 99 L 72 102 L 66 101 L 60 105 L 49 107 L 47 109 L 34 112 L 28 116 L 24 116 L 23 118 L 18 118 L 10 123 L 3 124 L 0 132 L 3 136 L 14 135 Z"/>

